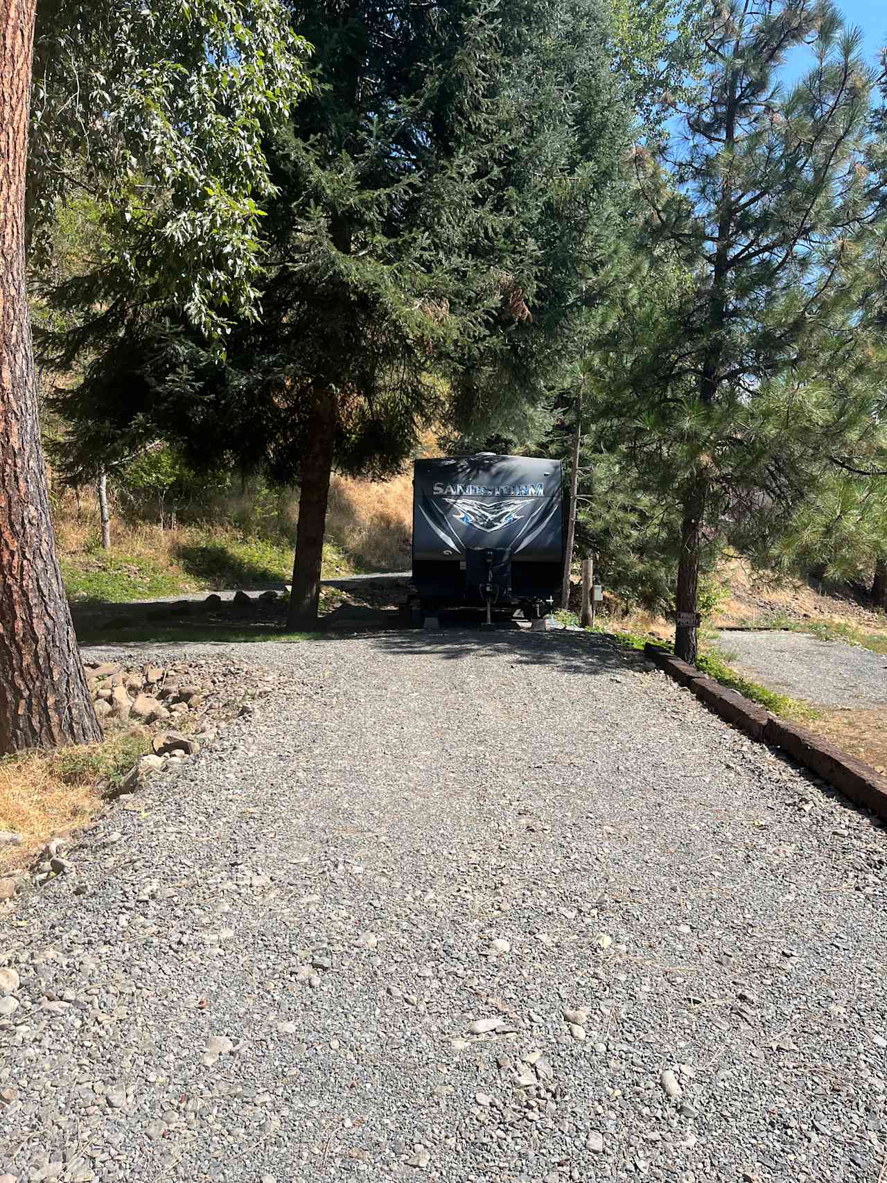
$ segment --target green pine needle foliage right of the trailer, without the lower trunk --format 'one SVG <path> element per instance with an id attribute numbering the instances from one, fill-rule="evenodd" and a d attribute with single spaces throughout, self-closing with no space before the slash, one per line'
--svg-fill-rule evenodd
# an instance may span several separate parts
<path id="1" fill-rule="evenodd" d="M 829 4 L 731 0 L 705 43 L 671 143 L 635 153 L 650 266 L 591 355 L 583 460 L 601 472 L 583 516 L 617 582 L 658 605 L 679 558 L 711 573 L 732 545 L 781 565 L 835 464 L 867 439 L 872 461 L 883 418 L 883 350 L 860 310 L 887 173 L 857 41 Z M 786 92 L 801 45 L 814 69 Z"/>

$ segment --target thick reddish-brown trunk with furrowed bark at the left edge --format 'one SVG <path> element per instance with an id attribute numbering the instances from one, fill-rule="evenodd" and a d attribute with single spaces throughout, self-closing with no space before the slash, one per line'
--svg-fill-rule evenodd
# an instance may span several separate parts
<path id="1" fill-rule="evenodd" d="M 56 558 L 25 289 L 35 0 L 0 0 L 0 754 L 102 738 Z"/>

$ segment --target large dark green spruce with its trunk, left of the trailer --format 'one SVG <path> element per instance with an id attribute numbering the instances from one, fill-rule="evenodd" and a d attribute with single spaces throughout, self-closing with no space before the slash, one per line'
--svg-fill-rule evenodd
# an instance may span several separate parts
<path id="1" fill-rule="evenodd" d="M 101 344 L 61 401 L 79 455 L 160 433 L 299 483 L 290 623 L 304 627 L 334 465 L 390 472 L 447 419 L 519 427 L 577 356 L 628 122 L 597 0 L 291 15 L 317 70 L 267 146 L 261 316 L 225 356 L 173 312 L 104 341 L 88 317 L 56 362 Z"/>

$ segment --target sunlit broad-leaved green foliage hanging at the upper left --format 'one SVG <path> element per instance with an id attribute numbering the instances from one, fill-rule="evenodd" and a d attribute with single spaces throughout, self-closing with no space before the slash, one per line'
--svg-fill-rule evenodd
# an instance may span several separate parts
<path id="1" fill-rule="evenodd" d="M 215 331 L 257 300 L 267 127 L 307 89 L 307 45 L 278 0 L 41 0 L 28 163 L 33 244 L 90 194 L 101 267 L 69 305 L 121 323 L 134 304 Z"/>

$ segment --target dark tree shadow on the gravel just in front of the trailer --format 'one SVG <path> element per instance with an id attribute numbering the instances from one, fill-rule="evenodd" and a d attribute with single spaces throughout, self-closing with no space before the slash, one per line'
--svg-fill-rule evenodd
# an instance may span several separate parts
<path id="1" fill-rule="evenodd" d="M 649 668 L 643 654 L 622 647 L 602 633 L 530 633 L 522 628 L 442 628 L 439 632 L 406 631 L 375 638 L 387 653 L 417 658 L 484 658 L 507 654 L 519 665 L 545 665 L 564 673 L 610 677 Z"/>

